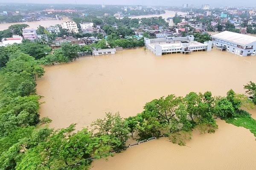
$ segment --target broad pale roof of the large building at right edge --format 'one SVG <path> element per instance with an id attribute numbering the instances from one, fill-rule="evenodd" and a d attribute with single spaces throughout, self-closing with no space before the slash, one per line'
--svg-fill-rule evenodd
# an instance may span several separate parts
<path id="1" fill-rule="evenodd" d="M 233 42 L 239 45 L 247 45 L 256 42 L 256 37 L 230 31 L 223 31 L 221 33 L 212 35 L 212 38 Z"/>

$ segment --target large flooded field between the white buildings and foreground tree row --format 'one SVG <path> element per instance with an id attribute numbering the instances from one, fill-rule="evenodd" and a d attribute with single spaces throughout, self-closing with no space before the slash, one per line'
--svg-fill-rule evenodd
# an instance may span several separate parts
<path id="1" fill-rule="evenodd" d="M 154 56 L 142 48 L 115 55 L 84 57 L 76 62 L 45 67 L 38 80 L 41 116 L 52 127 L 77 123 L 86 127 L 105 112 L 136 115 L 152 99 L 190 91 L 225 95 L 233 88 L 256 82 L 256 57 L 240 57 L 213 49 L 210 52 Z"/>

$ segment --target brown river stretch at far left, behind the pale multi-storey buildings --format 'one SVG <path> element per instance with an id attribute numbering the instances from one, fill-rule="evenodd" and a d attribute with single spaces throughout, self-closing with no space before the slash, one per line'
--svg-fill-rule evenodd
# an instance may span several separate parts
<path id="1" fill-rule="evenodd" d="M 0 24 L 0 31 L 8 29 L 9 26 L 15 24 L 27 24 L 30 28 L 38 28 L 39 25 L 47 27 L 47 26 L 54 26 L 56 24 L 61 24 L 62 20 L 44 20 L 44 21 L 34 21 L 34 22 L 21 22 L 21 23 L 4 23 Z"/>

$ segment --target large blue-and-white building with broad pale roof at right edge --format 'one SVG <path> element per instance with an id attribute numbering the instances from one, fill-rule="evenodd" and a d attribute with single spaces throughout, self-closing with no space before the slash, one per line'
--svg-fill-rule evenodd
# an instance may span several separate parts
<path id="1" fill-rule="evenodd" d="M 239 56 L 255 55 L 256 51 L 256 37 L 230 31 L 212 35 L 212 44 L 222 51 Z"/>

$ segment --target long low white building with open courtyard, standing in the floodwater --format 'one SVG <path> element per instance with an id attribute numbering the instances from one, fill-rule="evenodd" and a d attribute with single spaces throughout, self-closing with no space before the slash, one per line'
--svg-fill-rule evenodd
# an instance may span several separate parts
<path id="1" fill-rule="evenodd" d="M 197 42 L 194 41 L 194 36 L 173 37 L 166 36 L 165 38 L 148 39 L 144 38 L 145 46 L 157 56 L 167 53 L 190 53 L 192 51 L 211 51 L 212 41 Z"/>

